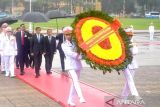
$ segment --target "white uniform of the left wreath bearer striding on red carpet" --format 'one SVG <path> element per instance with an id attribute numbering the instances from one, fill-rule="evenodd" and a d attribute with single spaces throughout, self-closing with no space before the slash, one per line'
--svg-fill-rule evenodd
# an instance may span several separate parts
<path id="1" fill-rule="evenodd" d="M 73 80 L 68 98 L 68 101 L 72 102 L 75 91 L 77 92 L 79 98 L 83 98 L 78 82 L 80 70 L 82 69 L 82 64 L 80 61 L 81 57 L 76 52 L 75 45 L 71 44 L 71 42 L 68 40 L 62 43 L 62 49 L 65 54 L 65 70 L 68 70 Z"/>

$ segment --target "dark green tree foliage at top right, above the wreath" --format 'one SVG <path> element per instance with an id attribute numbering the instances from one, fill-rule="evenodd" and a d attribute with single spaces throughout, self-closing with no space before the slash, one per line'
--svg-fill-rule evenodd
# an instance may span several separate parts
<path id="1" fill-rule="evenodd" d="M 124 6 L 127 14 L 144 14 L 146 11 L 160 11 L 160 0 L 102 0 L 102 10 L 108 13 L 122 13 Z M 139 10 L 137 6 L 140 7 Z"/>

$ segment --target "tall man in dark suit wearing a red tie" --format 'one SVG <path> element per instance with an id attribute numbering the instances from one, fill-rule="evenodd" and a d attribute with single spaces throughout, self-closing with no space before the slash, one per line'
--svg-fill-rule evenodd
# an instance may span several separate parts
<path id="1" fill-rule="evenodd" d="M 28 50 L 30 47 L 29 37 L 30 34 L 25 30 L 25 25 L 20 25 L 21 30 L 16 33 L 18 59 L 20 65 L 20 75 L 24 75 L 24 64 L 28 65 Z"/>

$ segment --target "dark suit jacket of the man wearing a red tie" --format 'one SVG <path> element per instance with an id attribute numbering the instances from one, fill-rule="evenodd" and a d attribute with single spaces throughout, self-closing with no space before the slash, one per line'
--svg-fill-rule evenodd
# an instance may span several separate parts
<path id="1" fill-rule="evenodd" d="M 31 37 L 31 34 L 27 31 L 24 31 L 24 45 L 22 45 L 21 31 L 16 33 L 18 53 L 21 53 L 22 51 L 28 52 L 28 50 L 30 49 L 30 43 L 29 43 L 30 37 Z"/>

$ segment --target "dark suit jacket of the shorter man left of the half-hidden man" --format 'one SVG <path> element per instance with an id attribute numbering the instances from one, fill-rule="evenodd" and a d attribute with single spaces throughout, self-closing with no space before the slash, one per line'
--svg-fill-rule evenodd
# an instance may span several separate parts
<path id="1" fill-rule="evenodd" d="M 54 54 L 56 52 L 56 38 L 51 37 L 51 42 L 49 41 L 48 36 L 44 37 L 44 52 L 46 54 Z"/>

